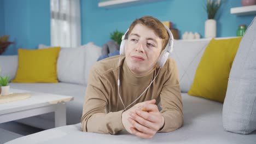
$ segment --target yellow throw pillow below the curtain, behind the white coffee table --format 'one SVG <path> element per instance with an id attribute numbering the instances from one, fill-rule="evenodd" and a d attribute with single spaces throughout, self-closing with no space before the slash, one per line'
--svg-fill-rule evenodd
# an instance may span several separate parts
<path id="1" fill-rule="evenodd" d="M 57 58 L 60 47 L 18 50 L 18 70 L 12 82 L 58 82 Z"/>

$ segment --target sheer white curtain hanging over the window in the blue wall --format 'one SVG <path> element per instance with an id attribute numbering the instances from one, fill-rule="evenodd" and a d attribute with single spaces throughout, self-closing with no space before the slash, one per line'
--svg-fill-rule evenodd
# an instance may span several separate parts
<path id="1" fill-rule="evenodd" d="M 80 0 L 50 0 L 51 45 L 81 45 Z"/>

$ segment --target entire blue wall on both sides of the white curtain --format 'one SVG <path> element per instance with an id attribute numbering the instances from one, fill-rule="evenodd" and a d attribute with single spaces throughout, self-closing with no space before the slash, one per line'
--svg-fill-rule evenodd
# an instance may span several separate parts
<path id="1" fill-rule="evenodd" d="M 207 0 L 163 0 L 115 9 L 98 8 L 97 0 L 80 1 L 82 44 L 93 41 L 102 46 L 109 40 L 110 33 L 115 30 L 125 32 L 133 20 L 144 15 L 172 21 L 180 36 L 185 31 L 204 35 Z M 222 5 L 218 11 L 217 37 L 235 36 L 238 25 L 251 23 L 252 15 L 230 14 L 230 8 L 240 6 L 240 0 L 226 0 Z M 0 25 L 0 34 L 9 34 L 10 41 L 15 41 L 4 55 L 14 55 L 20 47 L 36 49 L 40 43 L 50 45 L 50 0 L 0 0 L 1 17 L 4 17 L 4 22 Z"/>

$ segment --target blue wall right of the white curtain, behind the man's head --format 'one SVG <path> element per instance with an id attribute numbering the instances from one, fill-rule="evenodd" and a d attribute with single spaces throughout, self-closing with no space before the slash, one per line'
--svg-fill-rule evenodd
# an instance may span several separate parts
<path id="1" fill-rule="evenodd" d="M 180 37 L 185 31 L 199 32 L 204 37 L 206 1 L 164 0 L 132 7 L 104 9 L 97 7 L 97 1 L 82 0 L 82 43 L 94 41 L 103 45 L 109 40 L 110 33 L 116 29 L 125 32 L 133 20 L 144 15 L 173 22 L 174 27 L 179 29 Z M 237 17 L 230 14 L 232 7 L 241 7 L 241 1 L 226 0 L 223 3 L 217 15 L 217 37 L 235 36 L 238 25 L 248 26 L 253 20 L 254 16 Z"/>

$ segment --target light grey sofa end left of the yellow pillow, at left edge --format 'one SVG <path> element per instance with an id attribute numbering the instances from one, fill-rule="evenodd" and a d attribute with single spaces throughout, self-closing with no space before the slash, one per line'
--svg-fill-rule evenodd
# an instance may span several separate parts
<path id="1" fill-rule="evenodd" d="M 9 76 L 13 80 L 18 69 L 18 56 L 0 56 L 0 76 Z"/>

